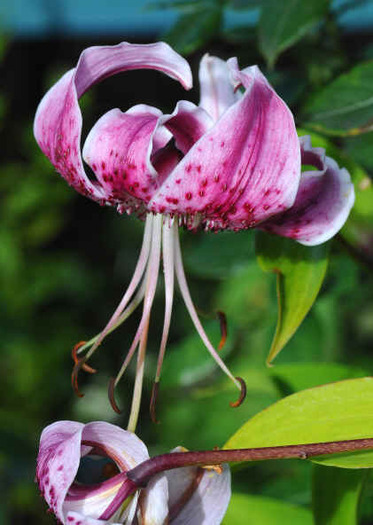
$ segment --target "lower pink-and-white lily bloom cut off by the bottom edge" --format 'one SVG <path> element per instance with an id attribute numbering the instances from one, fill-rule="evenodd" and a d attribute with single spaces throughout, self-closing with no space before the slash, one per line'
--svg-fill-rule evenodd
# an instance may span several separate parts
<path id="1" fill-rule="evenodd" d="M 89 456 L 109 459 L 112 476 L 81 483 L 79 466 Z M 169 470 L 139 490 L 126 473 L 147 459 L 146 446 L 132 432 L 101 421 L 87 425 L 58 421 L 42 433 L 36 480 L 64 525 L 218 525 L 222 521 L 231 496 L 227 465 L 215 470 L 194 466 Z"/>

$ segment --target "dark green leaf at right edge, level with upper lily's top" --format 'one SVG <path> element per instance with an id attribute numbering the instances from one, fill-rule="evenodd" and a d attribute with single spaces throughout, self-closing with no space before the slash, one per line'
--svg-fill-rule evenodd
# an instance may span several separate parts
<path id="1" fill-rule="evenodd" d="M 373 61 L 363 62 L 316 93 L 305 107 L 307 125 L 331 135 L 373 129 Z"/>

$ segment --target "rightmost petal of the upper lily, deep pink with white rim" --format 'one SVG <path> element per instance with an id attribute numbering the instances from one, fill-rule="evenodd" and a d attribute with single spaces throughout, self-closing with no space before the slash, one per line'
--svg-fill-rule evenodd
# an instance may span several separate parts
<path id="1" fill-rule="evenodd" d="M 263 229 L 317 245 L 333 237 L 346 222 L 355 192 L 348 171 L 339 168 L 322 148 L 312 148 L 309 137 L 301 137 L 302 162 L 318 171 L 302 173 L 299 190 L 291 209 L 273 217 Z"/>

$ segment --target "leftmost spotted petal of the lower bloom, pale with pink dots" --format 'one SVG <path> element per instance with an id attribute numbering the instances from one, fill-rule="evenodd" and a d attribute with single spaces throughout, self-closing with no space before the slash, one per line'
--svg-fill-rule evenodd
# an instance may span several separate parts
<path id="1" fill-rule="evenodd" d="M 46 502 L 62 523 L 63 502 L 80 463 L 83 428 L 83 424 L 74 421 L 58 421 L 46 427 L 40 438 L 36 479 Z"/>

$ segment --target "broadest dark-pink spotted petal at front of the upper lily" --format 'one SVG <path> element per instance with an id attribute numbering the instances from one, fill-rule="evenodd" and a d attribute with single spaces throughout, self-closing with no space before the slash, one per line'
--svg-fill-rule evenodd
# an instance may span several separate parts
<path id="1" fill-rule="evenodd" d="M 293 204 L 300 178 L 293 116 L 258 68 L 237 75 L 244 96 L 185 155 L 151 210 L 199 214 L 207 227 L 238 230 Z"/>

